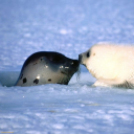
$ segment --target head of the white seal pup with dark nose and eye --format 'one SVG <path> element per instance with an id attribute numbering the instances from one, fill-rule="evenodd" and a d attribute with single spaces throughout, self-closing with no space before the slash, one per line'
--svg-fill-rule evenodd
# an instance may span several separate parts
<path id="1" fill-rule="evenodd" d="M 102 75 L 107 68 L 108 49 L 110 49 L 108 47 L 97 44 L 79 55 L 80 64 L 84 65 L 94 77 L 96 77 L 96 74 Z"/>

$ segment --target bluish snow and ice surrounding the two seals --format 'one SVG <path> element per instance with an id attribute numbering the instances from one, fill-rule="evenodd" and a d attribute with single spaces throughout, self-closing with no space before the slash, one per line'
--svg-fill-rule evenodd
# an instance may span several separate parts
<path id="1" fill-rule="evenodd" d="M 92 88 L 82 66 L 68 86 L 13 87 L 32 53 L 77 59 L 99 41 L 134 44 L 133 0 L 1 0 L 0 133 L 133 134 L 134 90 Z"/>

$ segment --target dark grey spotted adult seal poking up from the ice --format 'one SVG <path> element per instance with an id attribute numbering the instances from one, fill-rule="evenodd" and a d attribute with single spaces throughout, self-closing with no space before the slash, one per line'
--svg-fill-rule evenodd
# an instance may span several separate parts
<path id="1" fill-rule="evenodd" d="M 49 83 L 67 85 L 79 69 L 79 61 L 58 52 L 41 51 L 24 62 L 15 86 L 35 86 Z"/>

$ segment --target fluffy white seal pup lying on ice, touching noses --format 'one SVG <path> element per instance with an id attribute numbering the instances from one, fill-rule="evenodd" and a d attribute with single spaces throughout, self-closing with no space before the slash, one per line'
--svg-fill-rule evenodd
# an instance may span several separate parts
<path id="1" fill-rule="evenodd" d="M 97 79 L 93 86 L 134 88 L 134 46 L 98 43 L 79 61 Z"/>

